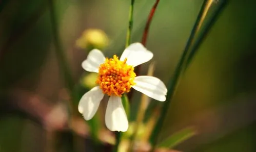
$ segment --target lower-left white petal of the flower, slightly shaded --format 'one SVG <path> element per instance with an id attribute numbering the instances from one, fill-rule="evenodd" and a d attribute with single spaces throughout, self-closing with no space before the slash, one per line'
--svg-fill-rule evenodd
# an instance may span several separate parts
<path id="1" fill-rule="evenodd" d="M 99 86 L 86 92 L 78 104 L 78 111 L 83 114 L 85 120 L 90 120 L 96 113 L 104 94 Z"/>

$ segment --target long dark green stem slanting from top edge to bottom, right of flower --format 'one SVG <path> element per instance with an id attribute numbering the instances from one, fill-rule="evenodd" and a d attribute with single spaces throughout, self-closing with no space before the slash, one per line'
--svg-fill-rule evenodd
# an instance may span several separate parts
<path id="1" fill-rule="evenodd" d="M 167 85 L 168 92 L 167 92 L 167 96 L 166 96 L 166 102 L 164 103 L 164 105 L 162 107 L 160 118 L 156 122 L 154 130 L 153 130 L 152 135 L 150 137 L 150 143 L 152 145 L 152 151 L 155 148 L 157 137 L 159 136 L 159 133 L 162 129 L 162 126 L 163 126 L 163 123 L 164 123 L 169 105 L 170 105 L 172 97 L 175 93 L 176 87 L 178 86 L 178 83 L 179 83 L 179 80 L 180 80 L 180 77 L 181 77 L 181 73 L 182 73 L 182 70 L 183 70 L 183 67 L 184 67 L 184 63 L 186 61 L 186 56 L 188 54 L 188 50 L 189 50 L 189 48 L 190 48 L 190 46 L 191 46 L 191 44 L 194 40 L 195 33 L 197 31 L 196 29 L 198 29 L 198 26 L 199 26 L 200 20 L 202 18 L 202 14 L 203 14 L 203 11 L 205 9 L 206 4 L 207 4 L 207 0 L 204 1 L 203 5 L 201 7 L 200 13 L 199 13 L 199 15 L 198 15 L 198 17 L 197 17 L 197 19 L 194 23 L 193 29 L 190 33 L 190 36 L 189 36 L 189 39 L 188 39 L 187 44 L 185 46 L 185 49 L 183 51 L 182 57 L 181 57 L 178 65 L 176 66 L 176 69 L 174 71 L 174 75 L 172 76 L 172 78 L 170 79 L 170 82 Z"/>

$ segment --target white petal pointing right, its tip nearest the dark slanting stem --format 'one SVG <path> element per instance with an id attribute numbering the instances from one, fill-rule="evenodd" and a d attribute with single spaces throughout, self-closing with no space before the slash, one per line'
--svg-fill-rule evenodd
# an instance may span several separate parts
<path id="1" fill-rule="evenodd" d="M 132 86 L 133 89 L 160 102 L 166 100 L 167 88 L 160 79 L 151 76 L 139 76 L 135 77 L 134 82 L 136 84 Z"/>

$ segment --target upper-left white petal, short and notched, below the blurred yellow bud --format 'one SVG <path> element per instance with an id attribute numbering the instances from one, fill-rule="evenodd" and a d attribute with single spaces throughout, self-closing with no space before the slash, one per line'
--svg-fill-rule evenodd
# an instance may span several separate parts
<path id="1" fill-rule="evenodd" d="M 105 56 L 99 49 L 93 49 L 87 59 L 82 62 L 82 67 L 89 72 L 99 72 L 99 66 L 104 63 Z"/>

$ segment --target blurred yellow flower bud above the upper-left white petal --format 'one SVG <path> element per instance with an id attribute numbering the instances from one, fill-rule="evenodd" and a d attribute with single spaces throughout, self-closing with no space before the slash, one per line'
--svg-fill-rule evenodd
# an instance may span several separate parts
<path id="1" fill-rule="evenodd" d="M 85 30 L 80 38 L 76 40 L 76 46 L 87 49 L 103 49 L 109 43 L 108 36 L 100 29 Z"/>

